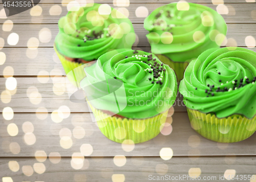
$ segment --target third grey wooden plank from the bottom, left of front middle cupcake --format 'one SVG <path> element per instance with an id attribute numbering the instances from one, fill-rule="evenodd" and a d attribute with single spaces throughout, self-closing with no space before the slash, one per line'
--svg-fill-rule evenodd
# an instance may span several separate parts
<path id="1" fill-rule="evenodd" d="M 52 112 L 62 105 L 68 106 L 71 112 L 89 111 L 86 102 L 75 103 L 70 101 L 66 92 L 69 88 L 67 88 L 65 77 L 51 77 L 48 78 L 47 83 L 41 83 L 35 77 L 18 77 L 15 79 L 17 81 L 16 93 L 11 96 L 10 102 L 3 104 L 3 106 L 11 107 L 14 112 L 35 112 L 38 107 L 45 107 L 49 112 Z M 0 93 L 6 90 L 5 83 L 6 78 L 0 78 Z M 39 95 L 29 95 L 30 90 L 39 93 Z M 177 104 L 175 105 L 176 111 L 186 111 L 185 107 L 182 106 L 181 97 L 178 94 Z"/>

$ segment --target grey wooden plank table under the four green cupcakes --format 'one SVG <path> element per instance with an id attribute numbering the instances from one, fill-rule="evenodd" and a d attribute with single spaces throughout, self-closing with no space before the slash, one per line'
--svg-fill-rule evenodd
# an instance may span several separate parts
<path id="1" fill-rule="evenodd" d="M 227 181 L 228 175 L 256 175 L 256 134 L 233 144 L 209 141 L 190 127 L 182 105 L 173 107 L 174 114 L 170 111 L 167 118 L 172 125 L 151 141 L 123 145 L 105 138 L 92 122 L 86 103 L 69 100 L 65 72 L 53 49 L 58 19 L 67 14 L 69 2 L 41 0 L 32 10 L 8 18 L 0 5 L 2 181 L 153 181 L 165 175 L 168 179 L 165 176 L 157 181 L 192 181 L 187 177 L 193 176 L 202 181 Z M 151 50 L 143 28 L 145 16 L 171 2 L 97 1 L 129 15 L 137 34 L 134 49 L 144 51 Z M 222 47 L 256 51 L 255 0 L 189 2 L 217 9 L 223 15 L 228 33 Z M 138 12 L 143 17 L 137 17 Z M 17 43 L 11 33 L 19 36 Z M 6 88 L 9 81 L 10 89 Z M 177 178 L 179 175 L 184 178 Z"/>

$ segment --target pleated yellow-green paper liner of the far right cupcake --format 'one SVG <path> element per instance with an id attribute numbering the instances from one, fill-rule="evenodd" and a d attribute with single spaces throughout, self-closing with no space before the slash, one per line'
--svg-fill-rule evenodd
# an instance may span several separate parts
<path id="1" fill-rule="evenodd" d="M 256 116 L 248 119 L 243 115 L 217 118 L 214 113 L 203 113 L 187 108 L 191 127 L 206 139 L 221 142 L 240 142 L 249 138 L 256 130 Z"/>

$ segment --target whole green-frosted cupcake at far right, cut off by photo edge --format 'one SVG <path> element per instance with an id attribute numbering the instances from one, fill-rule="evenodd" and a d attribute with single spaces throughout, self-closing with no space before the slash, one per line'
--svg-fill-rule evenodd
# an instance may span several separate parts
<path id="1" fill-rule="evenodd" d="M 256 130 L 256 53 L 209 49 L 191 61 L 179 92 L 191 126 L 203 137 L 239 142 Z"/>

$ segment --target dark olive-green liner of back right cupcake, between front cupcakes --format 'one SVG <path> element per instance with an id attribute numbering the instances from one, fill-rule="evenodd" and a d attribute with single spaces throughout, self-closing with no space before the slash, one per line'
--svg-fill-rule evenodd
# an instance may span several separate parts
<path id="1" fill-rule="evenodd" d="M 177 82 L 179 83 L 184 76 L 184 72 L 186 70 L 186 67 L 188 65 L 189 62 L 185 61 L 185 62 L 174 62 L 172 60 L 170 60 L 168 57 L 162 55 L 162 54 L 156 54 L 156 56 L 164 63 L 170 66 L 170 68 L 172 68 L 176 74 L 177 77 Z"/>

